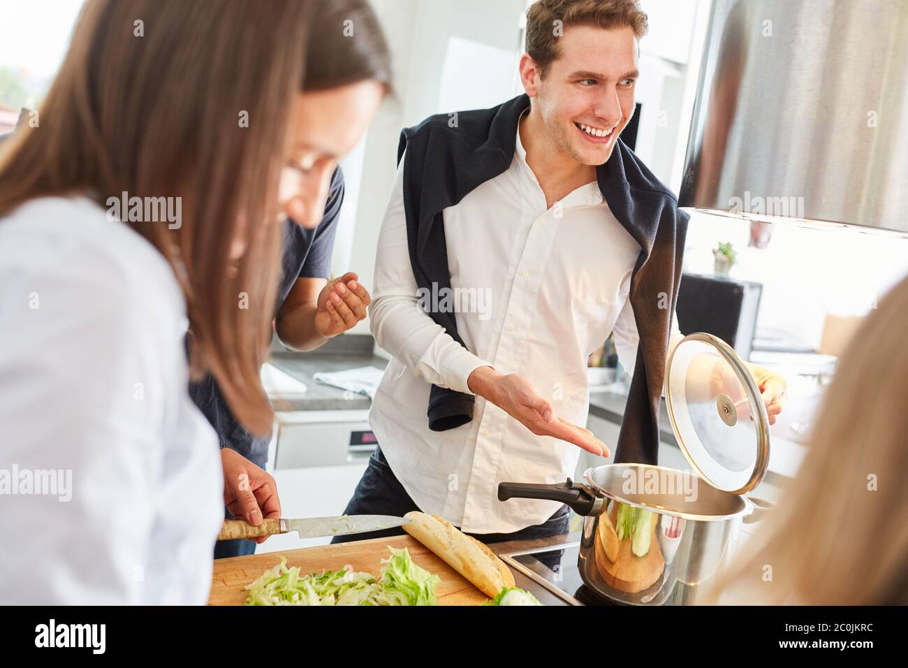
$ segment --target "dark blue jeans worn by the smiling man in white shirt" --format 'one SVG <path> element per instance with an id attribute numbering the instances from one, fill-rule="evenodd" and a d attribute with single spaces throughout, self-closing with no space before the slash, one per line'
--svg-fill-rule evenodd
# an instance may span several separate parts
<path id="1" fill-rule="evenodd" d="M 419 510 L 410 494 L 404 490 L 397 477 L 391 471 L 388 460 L 381 454 L 381 448 L 376 447 L 375 453 L 369 458 L 369 467 L 362 474 L 360 483 L 356 485 L 353 498 L 344 509 L 348 515 L 394 515 L 402 517 L 410 511 Z M 534 538 L 548 538 L 560 533 L 568 533 L 569 510 L 567 505 L 562 505 L 555 514 L 544 523 L 528 526 L 513 533 L 469 533 L 469 535 L 483 543 L 499 543 L 501 541 L 523 541 Z M 369 533 L 350 533 L 345 536 L 335 536 L 331 543 L 345 543 L 347 541 L 361 541 L 367 538 L 380 538 L 396 536 L 404 533 L 400 527 L 382 529 Z"/>

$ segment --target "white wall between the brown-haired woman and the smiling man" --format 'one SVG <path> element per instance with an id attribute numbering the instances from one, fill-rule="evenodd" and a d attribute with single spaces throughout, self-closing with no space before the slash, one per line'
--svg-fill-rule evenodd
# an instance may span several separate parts
<path id="1" fill-rule="evenodd" d="M 432 114 L 498 105 L 515 95 L 524 0 L 372 0 L 372 5 L 391 48 L 396 95 L 385 100 L 360 152 L 343 165 L 356 174 L 355 183 L 348 178 L 344 204 L 354 213 L 343 227 L 348 240 L 339 240 L 333 262 L 335 273 L 358 272 L 367 286 L 400 130 Z M 368 333 L 368 322 L 353 332 Z"/>

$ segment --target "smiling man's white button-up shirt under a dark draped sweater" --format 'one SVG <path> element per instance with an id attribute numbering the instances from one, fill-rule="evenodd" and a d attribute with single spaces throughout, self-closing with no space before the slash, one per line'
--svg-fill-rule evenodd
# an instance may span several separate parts
<path id="1" fill-rule="evenodd" d="M 528 379 L 558 416 L 586 424 L 589 355 L 613 331 L 630 373 L 637 355 L 627 295 L 639 244 L 611 214 L 596 182 L 549 209 L 517 128 L 515 135 L 508 170 L 443 212 L 448 296 L 467 348 L 422 310 L 433 298 L 429 306 L 444 308 L 446 295 L 419 294 L 413 278 L 403 161 L 381 227 L 370 307 L 372 334 L 393 355 L 370 412 L 381 450 L 423 512 L 470 533 L 510 533 L 545 522 L 560 503 L 502 503 L 498 483 L 564 482 L 580 451 L 532 434 L 481 397 L 471 422 L 433 432 L 426 414 L 430 385 L 469 393 L 469 374 L 491 365 Z"/>

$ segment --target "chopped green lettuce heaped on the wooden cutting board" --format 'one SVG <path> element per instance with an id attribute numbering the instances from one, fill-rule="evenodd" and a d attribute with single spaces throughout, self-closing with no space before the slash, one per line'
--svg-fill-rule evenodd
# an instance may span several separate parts
<path id="1" fill-rule="evenodd" d="M 389 549 L 380 582 L 349 565 L 301 575 L 299 566 L 288 568 L 281 557 L 281 563 L 246 587 L 246 605 L 434 605 L 439 576 L 413 563 L 406 548 Z"/>

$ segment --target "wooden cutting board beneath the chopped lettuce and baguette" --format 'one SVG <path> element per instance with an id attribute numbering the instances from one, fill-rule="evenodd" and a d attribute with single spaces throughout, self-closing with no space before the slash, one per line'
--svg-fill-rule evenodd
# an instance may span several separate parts
<path id="1" fill-rule="evenodd" d="M 281 563 L 281 555 L 287 558 L 288 566 L 300 566 L 302 573 L 336 571 L 350 564 L 354 571 L 365 571 L 378 578 L 383 565 L 381 560 L 390 556 L 389 547 L 406 547 L 413 562 L 441 578 L 435 590 L 439 605 L 481 605 L 489 598 L 415 538 L 394 536 L 215 559 L 212 593 L 208 604 L 242 605 L 247 595 L 244 587 L 272 566 Z"/>

